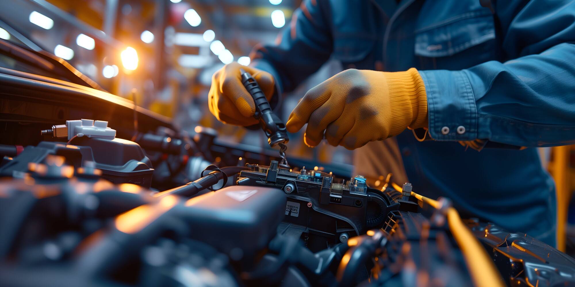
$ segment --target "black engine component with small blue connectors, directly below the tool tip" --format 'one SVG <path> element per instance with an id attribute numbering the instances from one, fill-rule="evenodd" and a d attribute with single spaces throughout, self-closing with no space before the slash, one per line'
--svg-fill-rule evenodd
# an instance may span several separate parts
<path id="1" fill-rule="evenodd" d="M 369 188 L 362 176 L 344 182 L 316 170 L 290 172 L 280 168 L 277 161 L 251 167 L 240 172 L 237 184 L 282 189 L 287 197 L 283 221 L 292 224 L 290 228 L 302 227 L 312 251 L 381 227 L 384 215 L 399 207 L 377 189 Z"/>

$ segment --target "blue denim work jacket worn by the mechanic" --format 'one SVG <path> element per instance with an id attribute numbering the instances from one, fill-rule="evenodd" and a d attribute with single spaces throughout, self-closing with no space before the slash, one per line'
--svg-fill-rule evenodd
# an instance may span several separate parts
<path id="1" fill-rule="evenodd" d="M 414 190 L 554 246 L 554 183 L 533 147 L 575 144 L 574 43 L 572 1 L 304 0 L 276 43 L 251 56 L 280 91 L 330 57 L 345 68 L 417 68 L 434 141 L 397 137 Z M 530 148 L 457 142 L 474 139 Z"/>

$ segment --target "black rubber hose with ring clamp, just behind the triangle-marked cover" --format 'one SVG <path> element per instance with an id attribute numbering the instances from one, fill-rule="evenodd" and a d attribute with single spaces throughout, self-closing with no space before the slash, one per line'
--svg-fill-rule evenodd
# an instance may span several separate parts
<path id="1" fill-rule="evenodd" d="M 227 174 L 227 176 L 232 176 L 233 174 L 237 174 L 241 172 L 241 170 L 248 170 L 250 168 L 246 168 L 245 166 L 226 166 L 225 168 L 221 168 L 220 170 Z M 165 196 L 165 195 L 178 195 L 184 197 L 190 197 L 195 195 L 196 193 L 211 187 L 214 184 L 217 184 L 221 179 L 224 178 L 224 173 L 221 173 L 218 170 L 214 170 L 206 174 L 204 177 L 200 177 L 197 180 L 192 181 L 191 183 L 187 183 L 182 185 L 181 187 L 176 187 L 172 189 L 168 189 L 167 191 L 162 191 L 160 193 L 156 193 L 156 197 L 158 196 Z"/>

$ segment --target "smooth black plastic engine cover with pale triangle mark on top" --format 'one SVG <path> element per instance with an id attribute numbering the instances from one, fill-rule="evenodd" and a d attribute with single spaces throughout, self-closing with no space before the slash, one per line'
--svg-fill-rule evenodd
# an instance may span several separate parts
<path id="1" fill-rule="evenodd" d="M 277 234 L 286 199 L 277 188 L 232 186 L 194 197 L 185 205 L 190 238 L 207 242 L 236 261 L 253 261 Z"/>

